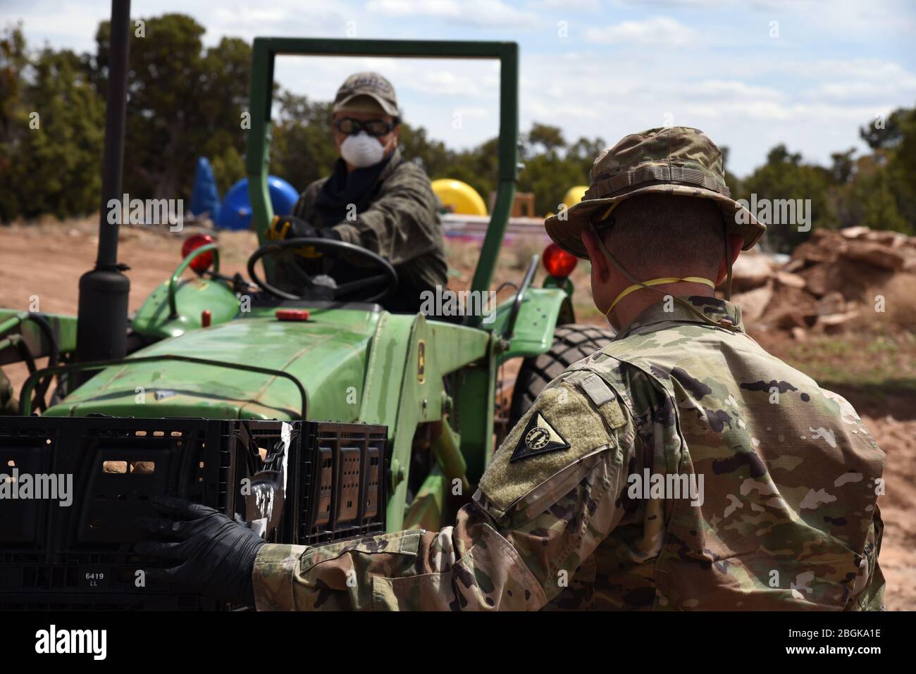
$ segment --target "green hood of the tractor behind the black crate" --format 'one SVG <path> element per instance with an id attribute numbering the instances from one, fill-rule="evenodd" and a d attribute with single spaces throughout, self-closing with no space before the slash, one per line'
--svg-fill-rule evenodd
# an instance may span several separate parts
<path id="1" fill-rule="evenodd" d="M 366 355 L 381 315 L 312 310 L 308 321 L 279 321 L 270 311 L 185 332 L 101 371 L 46 414 L 298 419 L 298 387 L 282 375 L 245 370 L 247 365 L 296 377 L 306 390 L 309 419 L 331 419 L 346 409 L 347 419 L 333 420 L 352 421 L 359 415 Z M 220 364 L 130 362 L 163 355 Z"/>

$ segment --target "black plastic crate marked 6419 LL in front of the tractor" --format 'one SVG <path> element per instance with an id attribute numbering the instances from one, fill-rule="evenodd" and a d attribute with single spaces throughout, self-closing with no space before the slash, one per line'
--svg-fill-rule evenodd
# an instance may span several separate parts
<path id="1" fill-rule="evenodd" d="M 283 426 L 259 420 L 0 417 L 0 473 L 16 468 L 72 475 L 71 506 L 0 499 L 0 610 L 225 608 L 189 588 L 137 588 L 136 571 L 155 564 L 131 552 L 142 538 L 133 522 L 155 516 L 149 500 L 165 494 L 251 518 L 252 499 L 245 494 L 265 474 L 265 456 L 282 446 Z M 346 499 L 355 489 L 362 509 L 355 518 L 352 508 L 344 517 L 335 511 L 322 525 L 312 512 L 313 487 L 322 481 L 312 478 L 311 467 L 330 443 L 334 457 L 352 457 L 347 450 L 356 446 L 369 456 L 367 467 L 384 468 L 387 429 L 300 421 L 288 427 L 286 495 L 277 527 L 268 527 L 265 538 L 304 543 L 383 531 L 384 501 L 377 502 L 382 496 L 375 490 L 384 495 L 387 473 L 349 474 L 353 462 L 341 463 L 347 470 L 325 486 L 333 499 Z M 376 484 L 363 484 L 364 474 Z M 301 532 L 300 522 L 307 523 Z"/>

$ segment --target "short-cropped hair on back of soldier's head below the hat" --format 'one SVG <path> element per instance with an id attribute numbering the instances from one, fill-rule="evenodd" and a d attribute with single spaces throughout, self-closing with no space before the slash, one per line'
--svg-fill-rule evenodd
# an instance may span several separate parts
<path id="1" fill-rule="evenodd" d="M 640 194 L 621 201 L 606 230 L 605 245 L 630 274 L 704 277 L 715 280 L 725 256 L 725 221 L 710 199 Z"/>

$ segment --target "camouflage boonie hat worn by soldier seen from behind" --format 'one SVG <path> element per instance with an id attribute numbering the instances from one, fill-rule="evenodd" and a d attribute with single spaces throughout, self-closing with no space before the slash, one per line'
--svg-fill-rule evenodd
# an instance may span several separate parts
<path id="1" fill-rule="evenodd" d="M 625 136 L 594 159 L 590 182 L 582 201 L 544 221 L 547 234 L 557 245 L 583 259 L 588 253 L 581 233 L 590 219 L 603 220 L 612 204 L 638 194 L 716 201 L 726 231 L 744 239 L 744 250 L 754 247 L 767 231 L 766 225 L 732 199 L 725 185 L 722 152 L 699 129 L 672 126 Z"/>

